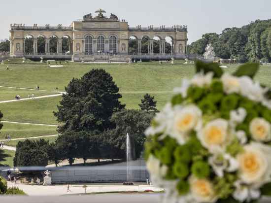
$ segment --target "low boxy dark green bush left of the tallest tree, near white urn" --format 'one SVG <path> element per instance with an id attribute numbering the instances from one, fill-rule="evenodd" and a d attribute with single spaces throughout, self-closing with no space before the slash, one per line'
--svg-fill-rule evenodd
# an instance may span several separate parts
<path id="1" fill-rule="evenodd" d="M 47 166 L 48 165 L 49 141 L 40 139 L 37 141 L 25 140 L 18 142 L 16 146 L 14 166 Z"/>

